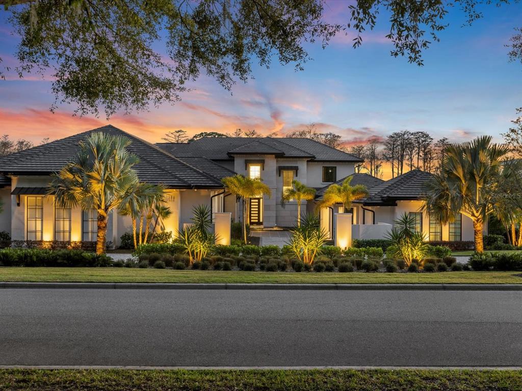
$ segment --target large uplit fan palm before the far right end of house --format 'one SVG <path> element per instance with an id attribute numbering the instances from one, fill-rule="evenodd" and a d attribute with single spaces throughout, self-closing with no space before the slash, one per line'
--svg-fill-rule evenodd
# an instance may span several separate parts
<path id="1" fill-rule="evenodd" d="M 451 144 L 445 150 L 441 170 L 426 184 L 423 210 L 441 223 L 462 213 L 473 222 L 475 250 L 484 251 L 484 222 L 494 212 L 502 158 L 508 148 L 491 143 L 491 136 Z"/>

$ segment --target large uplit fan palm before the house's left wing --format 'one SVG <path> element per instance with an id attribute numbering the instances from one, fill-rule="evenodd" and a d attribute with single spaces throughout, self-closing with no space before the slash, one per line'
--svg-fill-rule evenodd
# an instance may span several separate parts
<path id="1" fill-rule="evenodd" d="M 132 168 L 138 157 L 126 150 L 131 143 L 123 137 L 96 132 L 79 143 L 80 152 L 73 162 L 51 176 L 48 194 L 58 205 L 98 211 L 96 253 L 106 251 L 107 218 L 117 209 L 137 174 Z"/>

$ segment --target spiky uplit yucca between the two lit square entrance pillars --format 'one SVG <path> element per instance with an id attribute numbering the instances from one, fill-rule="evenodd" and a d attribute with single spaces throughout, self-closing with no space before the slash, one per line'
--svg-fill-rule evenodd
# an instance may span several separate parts
<path id="1" fill-rule="evenodd" d="M 328 240 L 328 233 L 321 228 L 319 217 L 306 214 L 301 224 L 291 230 L 292 236 L 288 245 L 295 256 L 303 263 L 311 265 L 321 253 L 321 247 Z"/>

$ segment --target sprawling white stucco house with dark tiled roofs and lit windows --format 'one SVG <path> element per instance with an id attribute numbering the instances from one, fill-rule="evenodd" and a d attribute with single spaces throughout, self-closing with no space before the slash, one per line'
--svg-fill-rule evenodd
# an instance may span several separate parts
<path id="1" fill-rule="evenodd" d="M 223 187 L 221 179 L 241 174 L 259 178 L 272 196 L 252 198 L 248 224 L 260 229 L 291 227 L 296 222 L 297 205 L 281 203 L 283 192 L 294 179 L 317 189 L 320 200 L 329 185 L 352 176 L 352 185 L 363 184 L 370 197 L 354 202 L 351 210 L 342 207 L 319 211 L 322 226 L 333 235 L 336 213 L 352 213 L 353 238 L 382 238 L 402 213 L 417 219 L 417 229 L 430 240 L 472 240 L 467 217 L 442 226 L 419 212 L 422 185 L 429 173 L 413 170 L 383 181 L 367 174 L 355 174 L 362 160 L 349 153 L 305 138 L 203 138 L 189 143 L 151 144 L 111 125 L 65 139 L 35 146 L 0 159 L 0 230 L 15 241 L 92 242 L 97 237 L 97 214 L 79 207 L 58 207 L 46 196 L 50 175 L 72 161 L 79 142 L 93 132 L 122 136 L 131 140 L 128 149 L 139 163 L 135 170 L 141 181 L 163 184 L 168 189 L 167 204 L 172 214 L 162 222 L 172 231 L 191 222 L 195 205 L 207 204 L 213 213 L 230 212 L 233 221 L 242 218 L 240 201 Z M 302 211 L 312 213 L 316 202 L 303 201 Z M 109 215 L 108 241 L 115 246 L 131 231 L 131 218 L 116 212 Z"/>

